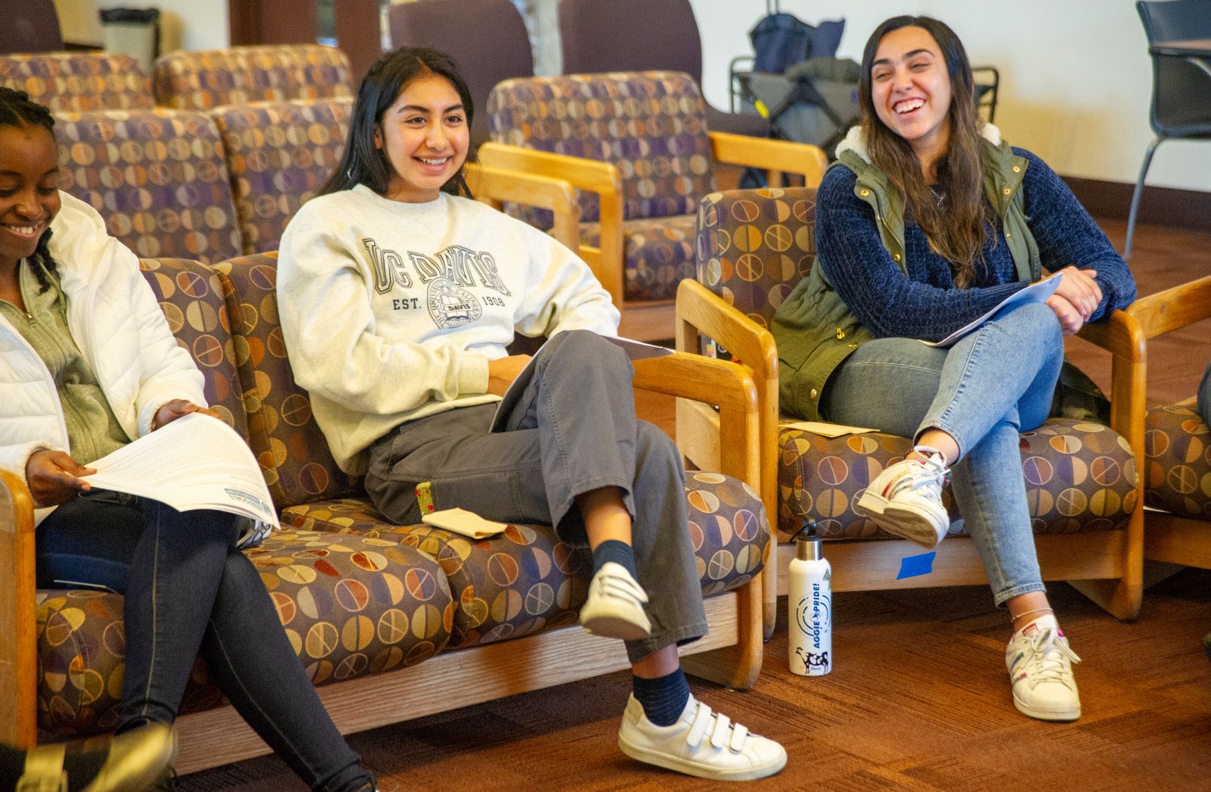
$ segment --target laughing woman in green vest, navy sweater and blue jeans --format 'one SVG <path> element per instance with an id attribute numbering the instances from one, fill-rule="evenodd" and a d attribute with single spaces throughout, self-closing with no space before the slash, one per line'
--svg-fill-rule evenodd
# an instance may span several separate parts
<path id="1" fill-rule="evenodd" d="M 1018 434 L 1051 411 L 1063 337 L 1131 303 L 1135 281 L 1060 177 L 978 116 L 946 24 L 879 25 L 859 96 L 862 126 L 816 196 L 816 264 L 774 317 L 782 408 L 912 437 L 857 510 L 925 547 L 949 529 L 941 494 L 953 470 L 955 504 L 1014 620 L 1014 704 L 1075 719 L 1078 658 L 1039 573 Z M 1046 302 L 943 340 L 1044 270 L 1058 275 Z"/>

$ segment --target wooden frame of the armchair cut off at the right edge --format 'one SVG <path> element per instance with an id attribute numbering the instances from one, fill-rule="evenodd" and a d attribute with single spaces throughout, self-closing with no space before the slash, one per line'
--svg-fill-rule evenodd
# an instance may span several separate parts
<path id="1" fill-rule="evenodd" d="M 1146 339 L 1211 317 L 1211 275 L 1137 299 L 1127 308 Z M 1141 431 L 1143 414 L 1140 415 Z M 1142 470 L 1142 469 L 1141 469 Z M 1143 557 L 1211 569 L 1211 524 L 1205 520 L 1148 509 Z"/>

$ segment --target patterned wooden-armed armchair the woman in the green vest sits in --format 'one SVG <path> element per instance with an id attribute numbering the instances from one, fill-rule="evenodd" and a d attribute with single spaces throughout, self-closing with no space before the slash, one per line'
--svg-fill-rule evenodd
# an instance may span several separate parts
<path id="1" fill-rule="evenodd" d="M 677 295 L 677 345 L 696 350 L 706 337 L 752 369 L 762 404 L 762 498 L 779 535 L 815 520 L 831 540 L 825 553 L 834 591 L 987 582 L 972 543 L 957 538 L 965 533 L 962 521 L 951 527 L 955 538 L 929 556 L 855 513 L 866 484 L 909 450 L 907 438 L 828 437 L 779 415 L 777 350 L 767 328 L 814 263 L 815 190 L 716 193 L 702 200 L 698 223 L 698 282 L 683 282 Z M 1131 619 L 1142 593 L 1142 333 L 1132 315 L 1118 311 L 1081 337 L 1114 355 L 1112 426 L 1049 420 L 1022 434 L 1022 469 L 1044 579 L 1072 581 L 1115 616 Z M 710 411 L 678 404 L 678 441 L 701 465 L 717 453 L 696 440 L 711 423 Z M 793 555 L 790 544 L 779 551 L 767 581 L 767 630 Z"/>

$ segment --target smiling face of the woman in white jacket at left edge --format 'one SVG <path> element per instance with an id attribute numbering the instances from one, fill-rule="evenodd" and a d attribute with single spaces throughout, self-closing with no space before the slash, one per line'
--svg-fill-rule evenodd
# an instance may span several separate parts
<path id="1" fill-rule="evenodd" d="M 54 136 L 40 126 L 0 127 L 0 268 L 34 254 L 59 212 Z"/>

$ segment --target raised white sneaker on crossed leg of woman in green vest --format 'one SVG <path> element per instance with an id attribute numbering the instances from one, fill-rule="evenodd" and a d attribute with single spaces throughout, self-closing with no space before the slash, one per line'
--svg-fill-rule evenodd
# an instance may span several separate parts
<path id="1" fill-rule="evenodd" d="M 888 465 L 857 499 L 855 511 L 888 533 L 935 547 L 951 528 L 942 505 L 951 471 L 936 449 L 917 446 L 913 450 L 922 457 Z"/>

